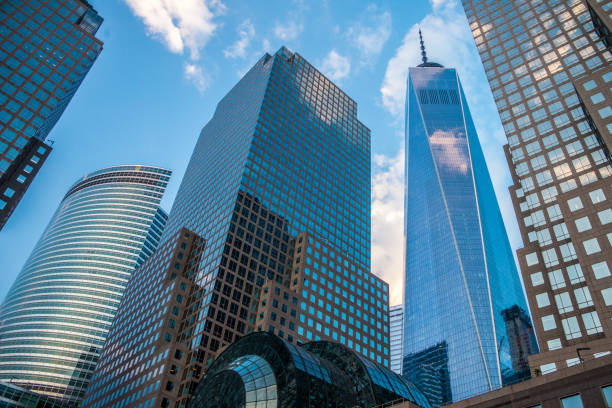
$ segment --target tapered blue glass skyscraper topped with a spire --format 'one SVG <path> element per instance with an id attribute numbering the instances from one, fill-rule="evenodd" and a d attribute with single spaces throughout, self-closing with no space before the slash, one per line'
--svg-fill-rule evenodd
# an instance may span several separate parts
<path id="1" fill-rule="evenodd" d="M 527 305 L 457 72 L 421 47 L 406 95 L 403 375 L 440 405 L 528 376 L 516 368 L 536 350 L 512 349 L 504 313 Z"/>

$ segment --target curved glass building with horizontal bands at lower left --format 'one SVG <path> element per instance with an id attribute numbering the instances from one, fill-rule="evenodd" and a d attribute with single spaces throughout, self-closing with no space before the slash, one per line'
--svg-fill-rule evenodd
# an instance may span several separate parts
<path id="1" fill-rule="evenodd" d="M 0 311 L 0 381 L 76 405 L 123 290 L 157 247 L 171 172 L 95 171 L 64 196 Z"/>

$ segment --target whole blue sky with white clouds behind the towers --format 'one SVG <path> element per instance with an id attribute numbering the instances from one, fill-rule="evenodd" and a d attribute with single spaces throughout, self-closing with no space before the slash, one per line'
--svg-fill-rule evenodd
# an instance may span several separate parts
<path id="1" fill-rule="evenodd" d="M 10 288 L 63 195 L 110 165 L 173 170 L 169 210 L 200 129 L 217 102 L 264 52 L 298 52 L 358 104 L 372 131 L 372 269 L 400 302 L 404 93 L 420 62 L 417 25 L 431 60 L 463 82 L 502 213 L 520 236 L 507 186 L 505 137 L 458 0 L 90 0 L 104 17 L 104 50 L 51 132 L 54 151 L 0 232 L 0 296 Z"/>

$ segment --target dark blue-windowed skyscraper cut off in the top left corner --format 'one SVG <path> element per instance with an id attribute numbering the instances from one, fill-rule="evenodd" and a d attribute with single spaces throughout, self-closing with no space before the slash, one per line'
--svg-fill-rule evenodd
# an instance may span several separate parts
<path id="1" fill-rule="evenodd" d="M 0 230 L 49 155 L 47 135 L 102 50 L 85 0 L 0 4 Z"/>

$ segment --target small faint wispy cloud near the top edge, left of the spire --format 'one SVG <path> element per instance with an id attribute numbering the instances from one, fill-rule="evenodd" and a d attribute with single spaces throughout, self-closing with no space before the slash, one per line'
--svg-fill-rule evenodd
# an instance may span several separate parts
<path id="1" fill-rule="evenodd" d="M 391 13 L 376 12 L 376 5 L 368 6 L 364 21 L 355 23 L 347 32 L 349 42 L 359 50 L 364 63 L 372 62 L 380 54 L 391 35 Z"/>

